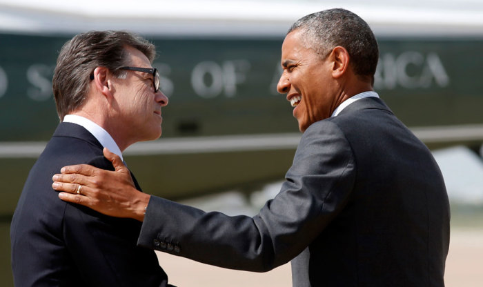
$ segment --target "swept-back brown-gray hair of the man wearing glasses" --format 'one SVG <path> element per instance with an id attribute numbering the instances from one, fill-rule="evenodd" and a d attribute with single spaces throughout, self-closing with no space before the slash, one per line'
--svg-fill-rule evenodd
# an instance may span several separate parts
<path id="1" fill-rule="evenodd" d="M 95 68 L 108 68 L 116 77 L 125 77 L 126 46 L 141 51 L 149 61 L 155 58 L 152 43 L 126 31 L 91 31 L 77 34 L 67 41 L 57 58 L 52 88 L 57 114 L 63 117 L 79 108 L 89 91 L 90 76 Z"/>

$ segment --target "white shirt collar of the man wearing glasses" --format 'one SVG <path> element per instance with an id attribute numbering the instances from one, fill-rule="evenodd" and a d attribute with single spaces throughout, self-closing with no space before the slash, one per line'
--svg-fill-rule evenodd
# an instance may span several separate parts
<path id="1" fill-rule="evenodd" d="M 109 133 L 101 128 L 101 126 L 99 126 L 94 121 L 78 115 L 66 115 L 65 117 L 63 117 L 63 122 L 77 123 L 79 126 L 82 126 L 86 130 L 88 130 L 99 141 L 99 143 L 101 143 L 104 148 L 108 148 L 111 152 L 118 155 L 121 160 L 124 160 L 122 158 L 121 150 L 119 149 L 119 146 L 117 146 L 117 143 L 114 141 L 114 139 L 112 139 Z"/>

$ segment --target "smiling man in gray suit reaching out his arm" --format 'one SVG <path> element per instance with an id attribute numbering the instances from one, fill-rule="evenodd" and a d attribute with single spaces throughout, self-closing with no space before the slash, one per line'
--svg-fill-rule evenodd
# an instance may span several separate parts
<path id="1" fill-rule="evenodd" d="M 444 286 L 444 181 L 428 148 L 373 91 L 377 59 L 371 28 L 352 12 L 324 10 L 293 24 L 277 90 L 303 135 L 279 194 L 255 217 L 141 194 L 118 184 L 126 170 L 70 166 L 55 188 L 86 185 L 84 195 L 59 197 L 143 221 L 140 246 L 257 272 L 292 260 L 293 286 Z"/>

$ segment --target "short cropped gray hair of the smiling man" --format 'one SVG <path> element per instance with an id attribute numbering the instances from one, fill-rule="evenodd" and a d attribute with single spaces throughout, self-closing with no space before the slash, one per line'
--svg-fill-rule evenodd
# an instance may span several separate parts
<path id="1" fill-rule="evenodd" d="M 297 20 L 287 34 L 302 32 L 302 45 L 325 59 L 337 46 L 346 48 L 356 75 L 374 81 L 379 48 L 366 21 L 351 11 L 330 9 Z"/>

